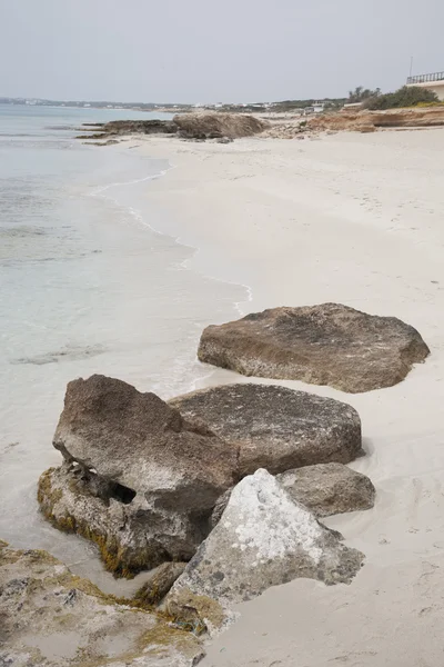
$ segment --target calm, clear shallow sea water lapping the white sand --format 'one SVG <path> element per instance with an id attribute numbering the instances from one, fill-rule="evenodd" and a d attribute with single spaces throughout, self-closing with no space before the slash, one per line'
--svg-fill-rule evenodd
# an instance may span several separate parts
<path id="1" fill-rule="evenodd" d="M 147 192 L 167 160 L 75 139 L 84 122 L 124 118 L 169 117 L 0 106 L 0 539 L 48 549 L 113 593 L 95 547 L 38 509 L 38 478 L 61 462 L 51 442 L 67 382 L 103 374 L 163 399 L 202 386 L 200 334 L 245 298 L 189 268 L 196 249 L 159 229 Z"/>

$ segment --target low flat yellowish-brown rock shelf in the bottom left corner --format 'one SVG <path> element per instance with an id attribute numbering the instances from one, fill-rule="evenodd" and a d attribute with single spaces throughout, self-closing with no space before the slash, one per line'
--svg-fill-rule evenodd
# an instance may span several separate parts
<path id="1" fill-rule="evenodd" d="M 202 656 L 162 616 L 104 595 L 47 551 L 0 542 L 0 665 L 192 667 Z"/>

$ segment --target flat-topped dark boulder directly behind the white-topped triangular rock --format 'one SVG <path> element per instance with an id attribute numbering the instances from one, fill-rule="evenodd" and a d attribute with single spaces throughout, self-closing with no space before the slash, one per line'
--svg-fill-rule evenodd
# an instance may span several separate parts
<path id="1" fill-rule="evenodd" d="M 356 410 L 306 391 L 223 385 L 174 398 L 169 405 L 239 447 L 241 476 L 258 468 L 278 474 L 312 464 L 346 464 L 362 451 Z"/>

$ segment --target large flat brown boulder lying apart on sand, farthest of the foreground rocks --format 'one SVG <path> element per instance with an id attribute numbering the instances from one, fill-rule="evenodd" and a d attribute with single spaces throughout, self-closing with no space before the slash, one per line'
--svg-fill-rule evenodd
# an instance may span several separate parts
<path id="1" fill-rule="evenodd" d="M 356 394 L 401 382 L 428 354 L 416 329 L 395 317 L 322 303 L 274 308 L 206 327 L 198 356 L 246 376 Z"/>

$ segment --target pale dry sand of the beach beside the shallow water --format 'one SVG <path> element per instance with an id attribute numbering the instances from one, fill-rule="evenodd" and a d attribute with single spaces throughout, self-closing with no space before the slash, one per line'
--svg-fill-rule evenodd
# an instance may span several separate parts
<path id="1" fill-rule="evenodd" d="M 243 312 L 340 301 L 402 318 L 432 350 L 391 389 L 282 382 L 362 417 L 367 456 L 352 467 L 375 484 L 375 508 L 325 522 L 366 563 L 351 586 L 300 579 L 241 605 L 202 667 L 442 667 L 444 130 L 135 145 L 175 166 L 147 188 L 161 231 L 199 248 L 203 272 L 250 286 Z"/>

